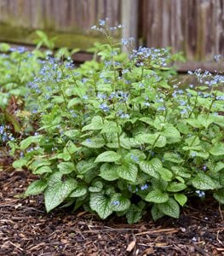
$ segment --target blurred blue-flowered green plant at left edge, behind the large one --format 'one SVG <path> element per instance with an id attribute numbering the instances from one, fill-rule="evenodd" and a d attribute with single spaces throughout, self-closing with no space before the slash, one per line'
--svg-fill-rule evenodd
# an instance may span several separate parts
<path id="1" fill-rule="evenodd" d="M 0 146 L 5 147 L 14 137 L 27 137 L 35 130 L 32 127 L 32 115 L 37 111 L 37 96 L 40 91 L 30 82 L 42 74 L 39 72 L 45 64 L 44 59 L 53 54 L 50 50 L 39 50 L 40 46 L 45 45 L 49 49 L 54 47 L 54 38 L 49 39 L 40 31 L 37 31 L 37 36 L 37 47 L 32 51 L 25 47 L 0 44 Z M 78 49 L 70 52 L 66 48 L 60 48 L 55 52 L 55 57 L 60 60 L 62 56 L 76 51 Z"/>

